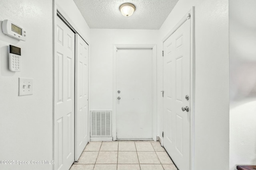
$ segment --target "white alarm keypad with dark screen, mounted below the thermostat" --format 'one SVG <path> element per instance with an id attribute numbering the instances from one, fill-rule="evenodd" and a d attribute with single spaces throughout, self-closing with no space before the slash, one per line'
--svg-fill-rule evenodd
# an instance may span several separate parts
<path id="1" fill-rule="evenodd" d="M 21 68 L 21 49 L 13 45 L 9 45 L 9 70 L 20 71 Z"/>

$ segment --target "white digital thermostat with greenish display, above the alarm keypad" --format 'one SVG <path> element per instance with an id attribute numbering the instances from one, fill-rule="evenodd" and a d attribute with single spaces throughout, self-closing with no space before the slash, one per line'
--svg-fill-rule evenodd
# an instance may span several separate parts
<path id="1" fill-rule="evenodd" d="M 17 25 L 16 23 L 13 23 L 10 20 L 4 20 L 2 22 L 2 30 L 3 33 L 14 37 L 21 41 L 26 41 L 26 31 L 23 27 Z"/>

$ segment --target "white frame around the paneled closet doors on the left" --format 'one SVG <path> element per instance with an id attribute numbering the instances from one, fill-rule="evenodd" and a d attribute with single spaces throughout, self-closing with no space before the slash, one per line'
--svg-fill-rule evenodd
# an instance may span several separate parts
<path id="1" fill-rule="evenodd" d="M 60 18 L 62 20 L 64 20 L 64 23 L 66 23 L 68 25 L 68 27 L 70 27 L 70 29 L 72 29 L 72 31 L 74 31 L 75 33 L 80 32 L 80 30 L 77 27 L 74 28 L 74 26 L 73 26 L 73 25 L 75 25 L 74 22 L 68 17 L 66 12 L 64 12 L 64 10 L 62 10 L 62 8 L 56 3 L 56 0 L 53 0 L 53 10 L 54 11 L 53 11 L 53 33 L 52 33 L 52 36 L 53 36 L 53 56 L 55 57 L 55 54 L 56 54 L 56 51 L 57 51 L 56 50 L 56 42 L 55 42 L 55 34 L 56 34 L 56 30 L 57 30 L 56 18 L 58 16 L 60 16 Z M 84 39 L 84 38 L 82 37 L 82 39 Z M 84 41 L 86 43 L 88 42 L 88 41 L 86 41 L 86 39 L 84 39 Z M 53 68 L 53 73 L 52 73 L 53 74 L 53 84 L 52 84 L 52 86 L 53 86 L 53 93 L 52 93 L 53 94 L 53 101 L 52 101 L 52 104 L 53 104 L 53 114 L 52 114 L 52 149 L 53 149 L 53 151 L 52 151 L 52 154 L 53 155 L 52 155 L 52 157 L 53 157 L 53 159 L 55 158 L 55 153 L 54 153 L 54 146 L 55 146 L 55 141 L 54 141 L 54 135 L 55 135 L 55 133 L 54 133 L 54 115 L 56 113 L 56 108 L 55 108 L 55 103 L 54 103 L 54 100 L 55 100 L 55 96 L 54 96 L 54 94 L 55 94 L 55 89 L 54 89 L 54 84 L 55 84 L 55 82 L 54 82 L 54 78 L 55 78 L 55 75 L 54 75 L 54 69 L 55 69 L 54 57 L 52 59 L 53 60 L 53 65 L 52 65 L 52 68 Z M 88 61 L 88 63 L 89 63 L 89 61 Z M 89 65 L 88 65 L 88 67 L 89 67 Z M 88 70 L 89 70 L 89 68 L 88 68 Z M 74 74 L 76 75 L 77 73 L 74 72 Z M 88 85 L 89 85 L 89 83 L 88 83 Z M 75 88 L 76 88 L 76 84 L 75 84 Z M 76 96 L 76 94 L 75 94 L 75 96 Z M 88 111 L 89 111 L 89 109 L 88 109 Z M 74 112 L 74 113 L 76 115 L 76 112 Z M 88 114 L 88 141 L 90 141 L 90 135 L 89 134 L 90 134 L 90 114 Z M 76 150 L 75 150 L 75 152 L 76 152 Z M 54 170 L 54 164 L 52 164 L 52 170 Z"/>

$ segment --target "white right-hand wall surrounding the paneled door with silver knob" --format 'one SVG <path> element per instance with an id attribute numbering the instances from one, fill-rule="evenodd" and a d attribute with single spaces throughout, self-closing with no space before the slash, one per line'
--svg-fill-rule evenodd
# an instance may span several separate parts
<path id="1" fill-rule="evenodd" d="M 216 166 L 218 169 L 227 170 L 229 167 L 228 0 L 179 0 L 160 28 L 159 43 L 162 43 L 164 36 L 192 6 L 195 6 L 196 41 L 195 151 L 192 164 L 194 170 L 215 170 Z M 158 59 L 160 63 L 160 56 Z M 160 117 L 162 118 L 162 115 Z M 161 132 L 162 127 L 159 130 Z"/>

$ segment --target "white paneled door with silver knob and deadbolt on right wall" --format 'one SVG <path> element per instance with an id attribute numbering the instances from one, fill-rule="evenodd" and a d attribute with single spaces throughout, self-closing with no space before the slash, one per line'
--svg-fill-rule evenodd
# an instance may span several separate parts
<path id="1" fill-rule="evenodd" d="M 164 148 L 180 170 L 190 169 L 190 20 L 164 41 Z"/>

